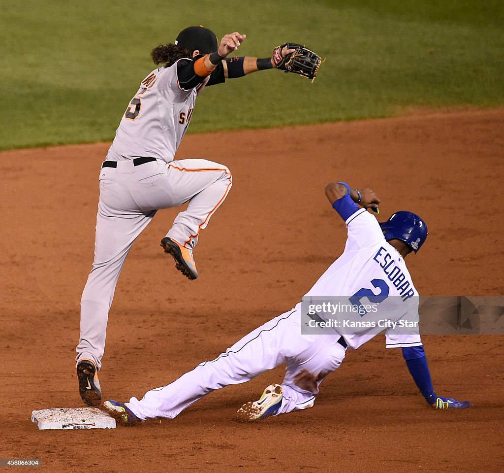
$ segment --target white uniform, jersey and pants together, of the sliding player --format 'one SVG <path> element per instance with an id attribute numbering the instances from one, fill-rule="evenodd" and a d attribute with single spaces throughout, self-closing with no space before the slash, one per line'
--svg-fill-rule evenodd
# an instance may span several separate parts
<path id="1" fill-rule="evenodd" d="M 349 199 L 349 196 L 346 197 Z M 347 210 L 355 204 L 347 205 Z M 418 292 L 401 255 L 385 241 L 379 223 L 365 209 L 358 209 L 346 220 L 348 239 L 343 254 L 307 292 L 307 297 L 362 298 L 385 303 L 394 299 L 391 317 L 401 319 L 418 310 Z M 391 298 L 390 296 L 395 296 Z M 396 307 L 394 307 L 396 309 Z M 244 383 L 282 363 L 287 364 L 282 382 L 284 396 L 275 415 L 313 406 L 323 379 L 337 370 L 345 358 L 339 335 L 302 334 L 301 304 L 266 322 L 245 335 L 216 359 L 201 363 L 173 383 L 152 389 L 139 400 L 132 397 L 125 405 L 142 420 L 157 417 L 173 419 L 186 407 L 209 392 L 230 384 Z M 367 318 L 365 314 L 363 318 Z M 348 347 L 357 348 L 374 335 L 366 329 L 345 332 Z M 346 333 L 350 333 L 346 335 Z M 387 347 L 421 345 L 420 335 L 386 334 Z M 299 387 L 295 381 L 301 370 L 317 377 L 315 391 Z"/>

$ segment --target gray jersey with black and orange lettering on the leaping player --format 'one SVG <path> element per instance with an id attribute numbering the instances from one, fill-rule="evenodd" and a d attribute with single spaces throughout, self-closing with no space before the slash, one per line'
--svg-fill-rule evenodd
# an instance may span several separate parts
<path id="1" fill-rule="evenodd" d="M 196 97 L 208 82 L 184 90 L 177 79 L 177 63 L 154 69 L 122 115 L 107 160 L 123 161 L 138 156 L 174 159 L 175 152 L 191 121 Z"/>

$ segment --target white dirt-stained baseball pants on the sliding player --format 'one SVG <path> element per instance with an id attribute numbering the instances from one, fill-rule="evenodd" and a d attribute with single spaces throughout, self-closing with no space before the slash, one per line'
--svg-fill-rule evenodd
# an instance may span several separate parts
<path id="1" fill-rule="evenodd" d="M 167 386 L 148 391 L 141 400 L 132 397 L 126 405 L 142 420 L 172 419 L 216 389 L 244 383 L 287 363 L 278 414 L 312 407 L 318 390 L 312 393 L 299 388 L 293 381 L 295 375 L 303 369 L 320 375 L 320 386 L 341 365 L 345 348 L 337 343 L 339 335 L 302 335 L 300 305 L 296 309 L 245 335 L 215 360 L 198 365 Z"/>

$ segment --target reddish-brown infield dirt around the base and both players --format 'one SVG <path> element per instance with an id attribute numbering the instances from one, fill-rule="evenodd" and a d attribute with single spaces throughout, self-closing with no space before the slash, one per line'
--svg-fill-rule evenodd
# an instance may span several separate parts
<path id="1" fill-rule="evenodd" d="M 38 431 L 33 409 L 81 406 L 79 301 L 91 268 L 97 178 L 109 143 L 0 153 L 3 197 L 0 457 L 45 471 L 404 471 L 504 469 L 504 336 L 425 336 L 436 391 L 474 407 L 434 411 L 382 336 L 347 352 L 312 409 L 234 420 L 283 367 L 212 393 L 175 420 L 113 431 Z M 127 400 L 215 358 L 293 307 L 343 250 L 324 187 L 370 187 L 381 216 L 412 210 L 429 237 L 409 270 L 422 295 L 501 295 L 504 109 L 187 136 L 233 188 L 202 232 L 196 281 L 159 241 L 160 211 L 135 243 L 109 317 L 100 381 Z"/>

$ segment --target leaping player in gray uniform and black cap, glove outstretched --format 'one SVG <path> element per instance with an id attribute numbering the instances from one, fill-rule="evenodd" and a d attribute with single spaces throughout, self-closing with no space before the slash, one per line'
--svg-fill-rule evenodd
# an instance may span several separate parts
<path id="1" fill-rule="evenodd" d="M 142 80 L 122 115 L 101 165 L 94 262 L 81 299 L 76 360 L 79 392 L 88 405 L 101 402 L 98 371 L 108 312 L 133 242 L 158 209 L 188 202 L 161 246 L 184 276 L 196 279 L 193 250 L 200 231 L 231 189 L 231 172 L 226 166 L 206 159 L 174 160 L 198 94 L 205 86 L 260 70 L 277 68 L 306 77 L 314 77 L 318 71 L 318 56 L 313 58 L 314 53 L 306 50 L 309 56 L 304 60 L 302 52 L 296 52 L 292 63 L 295 49 L 287 45 L 278 46 L 272 57 L 228 58 L 244 40 L 244 34 L 234 32 L 224 35 L 219 43 L 207 28 L 184 29 L 174 44 L 152 50 L 159 67 Z M 294 70 L 298 63 L 300 67 Z"/>

